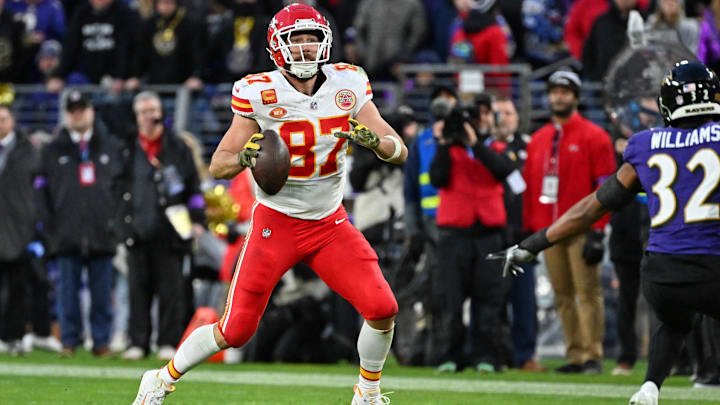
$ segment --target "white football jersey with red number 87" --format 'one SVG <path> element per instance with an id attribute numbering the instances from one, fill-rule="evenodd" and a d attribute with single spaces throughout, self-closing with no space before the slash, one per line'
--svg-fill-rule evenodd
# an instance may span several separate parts
<path id="1" fill-rule="evenodd" d="M 349 131 L 348 118 L 372 99 L 361 68 L 338 63 L 322 71 L 327 79 L 312 96 L 296 90 L 279 70 L 245 76 L 233 86 L 232 111 L 254 119 L 261 131 L 277 132 L 290 152 L 285 186 L 275 195 L 255 187 L 257 199 L 295 218 L 322 219 L 340 206 L 348 144 L 333 133 Z"/>

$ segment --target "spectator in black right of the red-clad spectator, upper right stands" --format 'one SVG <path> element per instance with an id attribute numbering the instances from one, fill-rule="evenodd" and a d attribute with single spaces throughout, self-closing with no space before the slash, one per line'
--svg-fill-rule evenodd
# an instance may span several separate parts
<path id="1" fill-rule="evenodd" d="M 605 14 L 599 16 L 590 30 L 582 51 L 583 74 L 588 80 L 603 79 L 612 59 L 627 44 L 627 21 L 638 0 L 612 0 Z"/>

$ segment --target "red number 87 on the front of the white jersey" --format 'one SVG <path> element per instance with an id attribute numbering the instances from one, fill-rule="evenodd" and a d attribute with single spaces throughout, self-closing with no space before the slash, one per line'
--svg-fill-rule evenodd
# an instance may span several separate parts
<path id="1" fill-rule="evenodd" d="M 349 115 L 341 115 L 338 117 L 320 118 L 320 136 L 332 135 L 335 131 L 349 131 L 350 123 Z M 280 126 L 280 137 L 288 145 L 290 159 L 295 156 L 302 156 L 301 166 L 290 166 L 290 178 L 307 179 L 315 174 L 316 165 L 318 165 L 317 157 L 314 151 L 317 145 L 317 131 L 315 125 L 308 120 L 289 121 Z M 302 135 L 302 143 L 293 143 L 293 134 Z M 319 164 L 318 176 L 328 176 L 338 171 L 337 155 L 345 145 L 346 139 L 337 139 L 335 147 L 330 151 L 325 162 Z"/>

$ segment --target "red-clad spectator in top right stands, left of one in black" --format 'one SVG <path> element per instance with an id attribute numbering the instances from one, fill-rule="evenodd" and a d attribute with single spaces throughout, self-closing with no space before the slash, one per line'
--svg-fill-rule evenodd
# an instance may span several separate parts
<path id="1" fill-rule="evenodd" d="M 649 3 L 648 0 L 637 0 L 638 7 L 643 11 L 648 9 Z M 565 24 L 565 42 L 575 59 L 582 59 L 585 40 L 595 20 L 608 11 L 609 5 L 608 0 L 575 0 L 573 3 Z"/>

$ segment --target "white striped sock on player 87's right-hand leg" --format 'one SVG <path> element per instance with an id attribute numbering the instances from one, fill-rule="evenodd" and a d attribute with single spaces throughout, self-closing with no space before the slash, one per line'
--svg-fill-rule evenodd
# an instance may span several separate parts
<path id="1" fill-rule="evenodd" d="M 385 359 L 392 345 L 395 325 L 389 330 L 372 328 L 363 323 L 358 337 L 358 354 L 360 355 L 360 391 L 367 392 L 380 388 L 380 376 Z"/>

